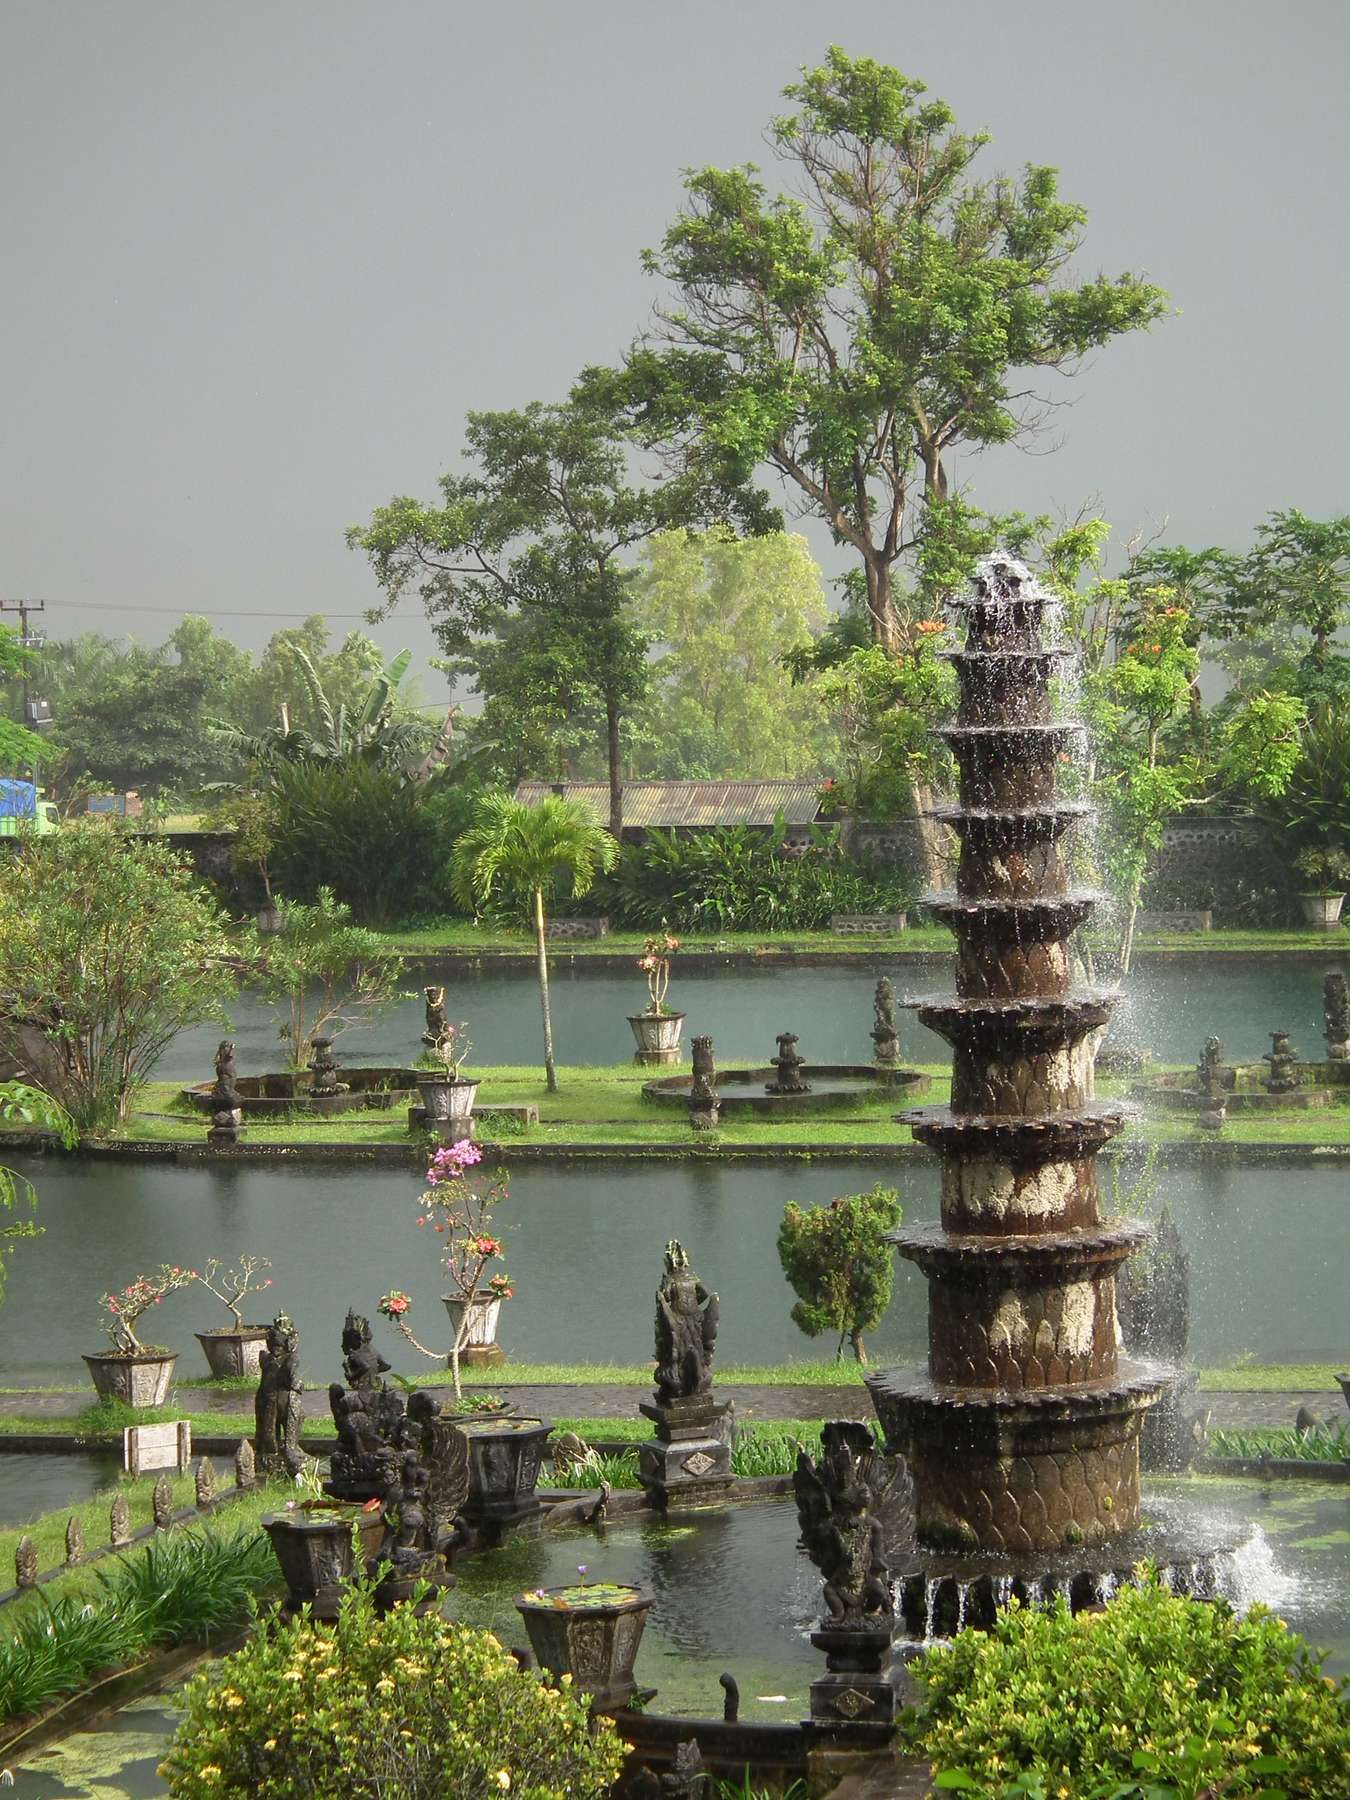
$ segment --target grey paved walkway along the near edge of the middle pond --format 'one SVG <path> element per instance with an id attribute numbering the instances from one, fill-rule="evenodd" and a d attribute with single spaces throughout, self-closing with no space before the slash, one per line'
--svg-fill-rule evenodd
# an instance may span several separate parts
<path id="1" fill-rule="evenodd" d="M 524 1413 L 544 1413 L 551 1418 L 626 1418 L 637 1415 L 637 1402 L 648 1399 L 646 1388 L 628 1386 L 549 1386 L 549 1388 L 493 1388 L 491 1382 L 475 1382 L 473 1391 L 499 1391 Z M 871 1418 L 868 1390 L 859 1386 L 839 1388 L 751 1388 L 738 1382 L 718 1382 L 720 1400 L 736 1402 L 736 1417 L 742 1422 L 754 1418 Z M 178 1404 L 193 1413 L 247 1413 L 252 1395 L 247 1391 L 221 1393 L 214 1388 L 180 1388 Z M 1292 1426 L 1300 1406 L 1307 1406 L 1318 1418 L 1334 1418 L 1350 1424 L 1350 1413 L 1336 1388 L 1298 1393 L 1240 1393 L 1219 1390 L 1197 1397 L 1208 1406 L 1213 1426 L 1253 1427 L 1253 1426 Z M 5 1393 L 0 1395 L 0 1417 L 7 1418 L 72 1418 L 92 1400 L 90 1393 Z M 310 1388 L 306 1391 L 306 1411 L 317 1417 L 328 1411 L 328 1391 Z M 2 1440 L 0 1440 L 2 1444 Z"/>

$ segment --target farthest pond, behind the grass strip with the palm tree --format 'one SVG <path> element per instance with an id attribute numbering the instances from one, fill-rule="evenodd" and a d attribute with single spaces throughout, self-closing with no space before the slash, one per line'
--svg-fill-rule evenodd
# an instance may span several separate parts
<path id="1" fill-rule="evenodd" d="M 1309 958 L 1219 959 L 1186 954 L 1145 959 L 1130 974 L 1112 1037 L 1152 1049 L 1163 1062 L 1193 1062 L 1215 1033 L 1229 1060 L 1244 1062 L 1271 1048 L 1269 1033 L 1287 1030 L 1305 1058 L 1323 1055 L 1321 979 L 1327 968 L 1350 974 L 1343 947 L 1328 947 L 1325 965 Z M 877 956 L 864 967 L 729 967 L 688 974 L 675 967 L 671 1004 L 688 1013 L 684 1042 L 707 1031 L 720 1064 L 763 1062 L 779 1031 L 801 1037 L 808 1062 L 871 1060 L 871 995 L 880 976 L 896 994 L 918 995 L 950 986 L 950 956 L 896 963 Z M 484 967 L 439 976 L 436 959 L 409 968 L 409 988 L 445 981 L 450 1021 L 468 1021 L 473 1062 L 531 1064 L 540 1060 L 538 985 L 529 968 Z M 560 1062 L 607 1064 L 632 1057 L 626 1015 L 639 1010 L 643 985 L 632 974 L 607 974 L 585 961 L 558 961 L 553 970 L 554 1042 Z M 421 1051 L 423 1003 L 401 1001 L 369 1031 L 351 1033 L 340 1055 L 353 1064 L 401 1064 Z M 232 1012 L 239 1075 L 283 1067 L 283 1046 L 270 1006 L 243 995 Z M 164 1053 L 164 1078 L 205 1080 L 212 1071 L 220 1028 L 184 1031 Z M 900 1040 L 911 1062 L 947 1062 L 950 1049 L 913 1015 L 902 1015 Z"/>

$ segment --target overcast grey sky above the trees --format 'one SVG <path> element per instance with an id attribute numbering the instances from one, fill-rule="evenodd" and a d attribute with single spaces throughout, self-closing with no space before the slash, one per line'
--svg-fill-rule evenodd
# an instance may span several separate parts
<path id="1" fill-rule="evenodd" d="M 430 497 L 466 409 L 617 358 L 680 167 L 769 162 L 832 40 L 988 128 L 983 169 L 1055 164 L 1080 266 L 1179 308 L 1055 454 L 961 457 L 981 504 L 1231 545 L 1350 509 L 1345 0 L 0 0 L 0 594 L 340 634 L 376 598 L 344 527 Z"/>

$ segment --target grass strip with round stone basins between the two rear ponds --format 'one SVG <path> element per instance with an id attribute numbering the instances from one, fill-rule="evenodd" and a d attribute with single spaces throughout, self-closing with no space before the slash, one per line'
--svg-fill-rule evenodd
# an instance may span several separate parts
<path id="1" fill-rule="evenodd" d="M 479 1067 L 479 1098 L 493 1105 L 533 1105 L 538 1125 L 517 1120 L 493 1121 L 484 1118 L 479 1136 L 511 1154 L 513 1145 L 551 1147 L 556 1150 L 617 1145 L 643 1147 L 677 1145 L 691 1152 L 716 1156 L 718 1150 L 806 1150 L 810 1147 L 902 1147 L 913 1143 L 907 1125 L 896 1123 L 896 1112 L 911 1105 L 940 1105 L 950 1094 L 950 1067 L 945 1064 L 918 1064 L 927 1075 L 927 1089 L 914 1096 L 905 1093 L 862 1094 L 846 1107 L 835 1107 L 815 1118 L 736 1118 L 724 1114 L 716 1132 L 691 1134 L 680 1103 L 648 1100 L 643 1084 L 653 1071 L 634 1064 L 580 1066 L 569 1064 L 558 1071 L 558 1093 L 551 1094 L 542 1071 L 531 1064 L 499 1064 Z M 1150 1075 L 1177 1066 L 1150 1067 Z M 688 1073 L 688 1064 L 670 1066 L 664 1075 Z M 1098 1080 L 1098 1098 L 1129 1098 L 1136 1078 Z M 112 1143 L 203 1143 L 205 1118 L 182 1098 L 176 1082 L 149 1082 L 140 1089 L 137 1111 L 126 1132 Z M 245 1145 L 407 1145 L 409 1161 L 416 1161 L 416 1139 L 409 1136 L 403 1111 L 347 1112 L 326 1120 L 290 1120 L 283 1123 L 250 1120 Z M 1130 1123 L 1127 1143 L 1197 1143 L 1217 1145 L 1278 1143 L 1278 1145 L 1350 1145 L 1350 1087 L 1336 1089 L 1328 1107 L 1291 1112 L 1256 1112 L 1229 1116 L 1224 1130 L 1213 1138 L 1201 1134 L 1190 1114 L 1141 1114 Z"/>

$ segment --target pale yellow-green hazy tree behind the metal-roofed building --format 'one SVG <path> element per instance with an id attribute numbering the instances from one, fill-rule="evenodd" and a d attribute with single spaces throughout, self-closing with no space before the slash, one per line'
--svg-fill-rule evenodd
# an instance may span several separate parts
<path id="1" fill-rule="evenodd" d="M 826 625 L 803 536 L 666 531 L 643 547 L 634 608 L 655 644 L 643 772 L 819 776 L 833 765 L 815 686 L 794 686 L 785 666 Z"/>

